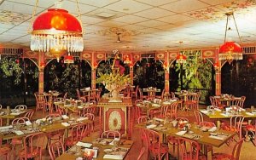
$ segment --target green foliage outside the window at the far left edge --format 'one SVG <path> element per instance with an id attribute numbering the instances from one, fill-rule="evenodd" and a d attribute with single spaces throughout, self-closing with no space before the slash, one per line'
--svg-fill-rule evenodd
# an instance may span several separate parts
<path id="1" fill-rule="evenodd" d="M 3 77 L 14 77 L 14 83 L 18 85 L 20 84 L 20 77 L 23 74 L 23 70 L 15 60 L 15 57 L 4 56 L 1 60 L 0 68 L 3 71 Z"/>

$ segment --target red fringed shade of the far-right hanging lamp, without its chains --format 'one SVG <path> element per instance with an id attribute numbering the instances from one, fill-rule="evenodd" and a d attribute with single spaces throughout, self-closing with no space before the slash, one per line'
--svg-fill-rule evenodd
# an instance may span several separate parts
<path id="1" fill-rule="evenodd" d="M 241 46 L 234 42 L 226 42 L 219 48 L 218 54 L 219 60 L 242 60 L 242 49 Z"/>

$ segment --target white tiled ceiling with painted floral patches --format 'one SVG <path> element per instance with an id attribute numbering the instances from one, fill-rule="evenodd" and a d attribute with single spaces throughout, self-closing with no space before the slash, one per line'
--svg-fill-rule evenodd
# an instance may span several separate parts
<path id="1" fill-rule="evenodd" d="M 57 0 L 38 1 L 37 15 L 52 8 Z M 28 31 L 35 3 L 36 0 L 3 1 L 2 46 L 29 47 Z M 75 16 L 79 14 L 76 0 L 63 0 L 62 8 Z M 86 50 L 218 47 L 224 43 L 225 13 L 229 11 L 235 13 L 241 44 L 256 43 L 256 0 L 79 0 L 79 9 Z M 228 37 L 239 42 L 234 21 L 229 21 Z M 121 43 L 116 42 L 116 32 L 121 33 Z"/>

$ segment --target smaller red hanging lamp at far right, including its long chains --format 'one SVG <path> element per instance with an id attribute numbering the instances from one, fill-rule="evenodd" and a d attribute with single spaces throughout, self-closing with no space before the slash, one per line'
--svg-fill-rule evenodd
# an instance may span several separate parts
<path id="1" fill-rule="evenodd" d="M 230 27 L 228 29 L 230 16 L 232 16 L 235 26 L 236 26 L 236 20 L 235 20 L 234 13 L 229 12 L 229 13 L 226 13 L 226 15 L 227 15 L 227 22 L 226 22 L 226 29 L 225 29 L 224 44 L 221 45 L 219 48 L 218 59 L 219 60 L 227 60 L 229 63 L 231 63 L 233 60 L 242 60 L 242 49 L 238 43 L 235 43 L 233 41 L 226 41 L 227 31 L 230 30 Z M 237 32 L 239 40 L 241 42 L 241 37 L 240 37 L 239 31 L 237 29 L 237 26 L 236 26 L 236 32 Z"/>

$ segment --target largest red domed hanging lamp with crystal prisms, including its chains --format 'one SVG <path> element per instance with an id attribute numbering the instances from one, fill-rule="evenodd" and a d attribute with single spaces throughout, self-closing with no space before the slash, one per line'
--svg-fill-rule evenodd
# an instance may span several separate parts
<path id="1" fill-rule="evenodd" d="M 76 1 L 79 10 L 78 0 Z M 32 21 L 38 0 L 32 14 Z M 80 12 L 79 12 L 80 17 Z M 57 60 L 67 52 L 82 52 L 84 49 L 83 31 L 80 21 L 67 10 L 61 9 L 61 2 L 55 3 L 55 9 L 38 15 L 32 23 L 32 51 L 49 52 Z"/>

